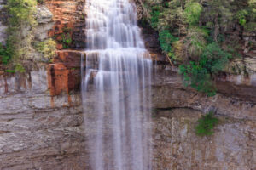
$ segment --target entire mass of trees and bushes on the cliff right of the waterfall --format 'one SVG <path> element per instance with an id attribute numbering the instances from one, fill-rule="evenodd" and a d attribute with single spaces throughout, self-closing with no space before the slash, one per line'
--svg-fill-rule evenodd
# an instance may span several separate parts
<path id="1" fill-rule="evenodd" d="M 229 32 L 256 31 L 255 0 L 143 0 L 143 8 L 185 85 L 210 96 L 215 77 L 239 54 L 240 37 Z"/>

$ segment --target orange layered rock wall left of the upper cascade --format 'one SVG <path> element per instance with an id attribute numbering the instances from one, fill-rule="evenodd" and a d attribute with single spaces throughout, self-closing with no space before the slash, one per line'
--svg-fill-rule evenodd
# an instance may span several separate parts
<path id="1" fill-rule="evenodd" d="M 85 12 L 84 0 L 46 0 L 45 6 L 53 14 L 55 25 L 49 31 L 49 37 L 54 37 L 58 42 L 58 49 L 63 47 L 65 39 L 71 38 L 72 42 L 66 48 L 85 48 Z"/>

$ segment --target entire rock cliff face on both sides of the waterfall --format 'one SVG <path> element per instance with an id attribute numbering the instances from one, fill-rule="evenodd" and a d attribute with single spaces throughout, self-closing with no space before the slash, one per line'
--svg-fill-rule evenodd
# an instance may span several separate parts
<path id="1" fill-rule="evenodd" d="M 61 38 L 68 27 L 71 48 L 83 48 L 82 6 L 80 1 L 46 1 L 39 8 L 38 37 Z M 152 84 L 154 169 L 255 169 L 255 72 L 249 77 L 225 73 L 218 79 L 218 94 L 207 97 L 183 87 L 177 68 L 160 54 L 157 34 L 142 29 L 157 63 Z M 34 71 L 0 76 L 0 169 L 86 169 L 82 54 L 62 49 L 52 63 L 38 63 Z M 242 63 L 253 70 L 254 58 Z M 212 136 L 198 137 L 196 121 L 210 110 L 220 123 Z"/>

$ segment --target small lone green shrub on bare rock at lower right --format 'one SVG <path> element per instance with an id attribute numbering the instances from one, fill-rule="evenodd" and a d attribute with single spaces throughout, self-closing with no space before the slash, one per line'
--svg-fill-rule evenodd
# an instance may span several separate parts
<path id="1" fill-rule="evenodd" d="M 218 118 L 213 116 L 213 112 L 210 111 L 206 116 L 201 116 L 198 120 L 198 124 L 195 127 L 195 133 L 199 136 L 212 135 L 213 128 L 218 125 Z"/>

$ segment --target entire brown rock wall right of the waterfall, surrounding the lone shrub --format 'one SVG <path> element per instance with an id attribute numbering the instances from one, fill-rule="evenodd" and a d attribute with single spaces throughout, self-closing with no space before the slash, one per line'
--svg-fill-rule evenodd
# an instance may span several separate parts
<path id="1" fill-rule="evenodd" d="M 136 3 L 143 14 L 141 1 Z M 255 46 L 247 50 L 255 35 L 242 35 L 243 57 L 220 74 L 218 94 L 209 98 L 183 86 L 177 66 L 160 53 L 157 32 L 142 20 L 139 23 L 145 45 L 158 64 L 152 85 L 153 169 L 256 169 Z M 208 111 L 214 111 L 220 122 L 212 136 L 199 137 L 197 120 Z"/>

